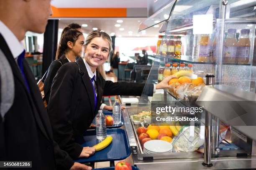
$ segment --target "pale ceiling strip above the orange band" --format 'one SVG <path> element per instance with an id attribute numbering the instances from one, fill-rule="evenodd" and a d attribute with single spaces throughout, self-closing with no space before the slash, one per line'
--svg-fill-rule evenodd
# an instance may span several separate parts
<path id="1" fill-rule="evenodd" d="M 138 8 L 147 7 L 147 0 L 52 0 L 51 5 L 57 8 Z"/>

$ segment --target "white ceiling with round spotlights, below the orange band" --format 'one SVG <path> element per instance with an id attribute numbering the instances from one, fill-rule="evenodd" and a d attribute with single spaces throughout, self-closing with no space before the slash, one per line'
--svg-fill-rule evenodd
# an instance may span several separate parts
<path id="1" fill-rule="evenodd" d="M 88 34 L 93 31 L 92 28 L 98 28 L 99 30 L 104 30 L 108 34 L 115 32 L 115 36 L 118 37 L 155 37 L 160 35 L 158 33 L 159 28 L 149 28 L 146 30 L 146 34 L 142 32 L 138 33 L 138 27 L 141 21 L 146 20 L 147 18 L 86 18 L 86 19 L 61 19 L 59 21 L 59 27 L 64 28 L 70 23 L 78 23 L 80 25 L 87 24 L 87 27 L 82 27 L 84 33 Z M 116 20 L 123 20 L 123 23 L 117 23 Z M 115 27 L 115 24 L 120 24 L 120 27 Z M 161 26 L 161 25 L 160 25 Z M 123 31 L 120 31 L 119 28 L 124 28 Z M 128 31 L 132 31 L 132 35 L 128 34 Z"/>

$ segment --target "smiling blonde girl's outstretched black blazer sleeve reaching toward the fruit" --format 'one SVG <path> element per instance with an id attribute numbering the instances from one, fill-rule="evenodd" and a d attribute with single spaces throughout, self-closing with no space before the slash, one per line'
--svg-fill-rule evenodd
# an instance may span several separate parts
<path id="1" fill-rule="evenodd" d="M 144 90 L 143 90 L 144 89 Z M 152 83 L 112 82 L 105 81 L 103 95 L 143 95 L 153 96 Z"/>

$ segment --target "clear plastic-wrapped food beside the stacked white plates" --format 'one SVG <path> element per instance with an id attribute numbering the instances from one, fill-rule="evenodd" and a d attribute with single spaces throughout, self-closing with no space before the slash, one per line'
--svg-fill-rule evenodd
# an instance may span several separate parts
<path id="1" fill-rule="evenodd" d="M 172 152 L 192 152 L 202 146 L 204 142 L 204 137 L 200 135 L 200 128 L 184 126 L 179 134 L 172 139 Z"/>

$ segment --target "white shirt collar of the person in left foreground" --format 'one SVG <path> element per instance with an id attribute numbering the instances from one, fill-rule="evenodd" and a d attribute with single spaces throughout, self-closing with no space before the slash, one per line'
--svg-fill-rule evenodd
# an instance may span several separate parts
<path id="1" fill-rule="evenodd" d="M 10 51 L 16 59 L 24 50 L 24 47 L 21 42 L 19 42 L 18 38 L 15 37 L 13 32 L 0 20 L 0 33 L 5 39 Z"/>

